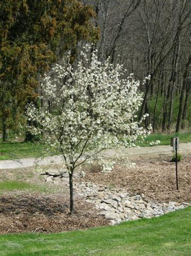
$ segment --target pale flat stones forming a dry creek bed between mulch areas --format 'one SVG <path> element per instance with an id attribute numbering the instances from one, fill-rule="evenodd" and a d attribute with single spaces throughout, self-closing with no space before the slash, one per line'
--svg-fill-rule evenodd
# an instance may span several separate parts
<path id="1" fill-rule="evenodd" d="M 83 175 L 84 173 L 75 173 L 74 178 L 78 180 Z M 52 170 L 45 173 L 45 180 L 57 184 L 62 182 L 65 186 L 69 186 L 68 172 Z M 164 213 L 184 209 L 189 205 L 177 202 L 151 202 L 144 194 L 130 195 L 122 188 L 103 187 L 91 182 L 74 183 L 74 194 L 85 197 L 87 202 L 94 204 L 98 211 L 97 215 L 103 215 L 112 225 L 122 221 L 158 217 Z"/>

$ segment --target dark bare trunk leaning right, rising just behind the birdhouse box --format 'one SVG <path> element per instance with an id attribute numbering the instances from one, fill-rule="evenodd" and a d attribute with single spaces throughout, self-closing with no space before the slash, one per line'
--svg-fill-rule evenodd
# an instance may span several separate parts
<path id="1" fill-rule="evenodd" d="M 186 64 L 186 69 L 185 69 L 185 73 L 184 73 L 184 77 L 183 77 L 182 90 L 180 93 L 180 103 L 179 103 L 176 132 L 179 132 L 179 130 L 180 130 L 181 117 L 182 117 L 182 112 L 183 112 L 183 100 L 184 100 L 184 95 L 185 95 L 185 89 L 186 89 L 187 78 L 188 78 L 188 69 L 189 69 L 190 64 L 191 64 L 191 55 L 189 56 L 188 62 Z"/>

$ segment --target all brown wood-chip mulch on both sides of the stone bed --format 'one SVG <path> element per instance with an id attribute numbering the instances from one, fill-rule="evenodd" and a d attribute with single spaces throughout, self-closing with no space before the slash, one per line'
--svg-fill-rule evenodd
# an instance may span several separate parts
<path id="1" fill-rule="evenodd" d="M 107 174 L 93 168 L 86 171 L 85 178 L 77 181 L 92 181 L 97 185 L 127 189 L 130 194 L 144 194 L 157 202 L 190 202 L 191 155 L 178 163 L 179 190 L 176 190 L 175 163 L 171 163 L 169 159 L 170 157 L 136 158 L 133 161 L 136 167 L 124 169 L 115 166 Z M 6 177 L 12 179 L 13 174 L 13 170 L 7 171 Z M 17 191 L 1 195 L 0 234 L 51 233 L 109 225 L 107 220 L 96 215 L 94 205 L 81 197 L 75 197 L 76 211 L 71 215 L 68 193 L 59 189 L 61 188 L 58 186 L 56 194 Z"/>

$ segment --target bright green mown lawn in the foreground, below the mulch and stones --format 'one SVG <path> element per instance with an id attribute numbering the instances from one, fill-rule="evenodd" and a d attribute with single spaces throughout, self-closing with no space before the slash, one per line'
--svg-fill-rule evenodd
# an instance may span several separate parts
<path id="1" fill-rule="evenodd" d="M 57 234 L 0 236 L 1 256 L 183 256 L 191 246 L 191 209 L 119 226 Z"/>

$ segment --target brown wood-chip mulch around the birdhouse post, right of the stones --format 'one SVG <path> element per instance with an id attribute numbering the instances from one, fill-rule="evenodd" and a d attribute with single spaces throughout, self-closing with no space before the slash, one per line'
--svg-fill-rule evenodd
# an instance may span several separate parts
<path id="1" fill-rule="evenodd" d="M 190 202 L 191 201 L 191 155 L 178 163 L 179 190 L 176 190 L 175 163 L 170 157 L 136 158 L 135 167 L 126 170 L 115 166 L 111 173 L 102 174 L 94 169 L 89 171 L 82 181 L 127 189 L 131 194 L 144 194 L 157 202 Z"/>

